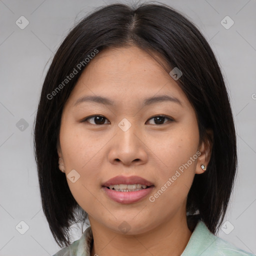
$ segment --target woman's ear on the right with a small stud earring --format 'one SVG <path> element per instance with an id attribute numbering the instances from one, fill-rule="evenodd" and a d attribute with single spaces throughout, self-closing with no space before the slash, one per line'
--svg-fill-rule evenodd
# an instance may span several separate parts
<path id="1" fill-rule="evenodd" d="M 197 159 L 196 168 L 195 168 L 196 174 L 201 174 L 207 170 L 207 166 L 211 156 L 212 144 L 213 144 L 213 131 L 211 129 L 207 129 L 206 134 L 200 146 L 198 147 L 198 150 L 201 154 L 198 156 L 198 159 Z M 201 164 L 203 164 L 206 167 L 205 170 L 201 168 Z"/>

